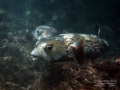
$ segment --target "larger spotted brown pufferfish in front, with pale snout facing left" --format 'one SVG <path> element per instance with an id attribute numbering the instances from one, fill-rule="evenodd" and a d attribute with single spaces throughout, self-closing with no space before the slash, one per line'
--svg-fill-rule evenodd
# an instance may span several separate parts
<path id="1" fill-rule="evenodd" d="M 67 33 L 40 41 L 31 52 L 33 60 L 62 62 L 75 60 L 83 64 L 95 60 L 108 49 L 108 42 L 92 34 Z"/>

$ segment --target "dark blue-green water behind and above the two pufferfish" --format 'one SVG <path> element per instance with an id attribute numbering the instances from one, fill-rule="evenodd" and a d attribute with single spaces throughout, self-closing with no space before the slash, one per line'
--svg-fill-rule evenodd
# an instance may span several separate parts
<path id="1" fill-rule="evenodd" d="M 72 29 L 80 33 L 88 33 L 89 30 L 84 31 L 86 27 L 99 23 L 109 27 L 115 37 L 119 36 L 119 5 L 119 0 L 0 0 L 0 8 L 13 14 L 12 21 L 18 19 L 18 23 L 38 26 L 45 22 L 61 32 Z"/>

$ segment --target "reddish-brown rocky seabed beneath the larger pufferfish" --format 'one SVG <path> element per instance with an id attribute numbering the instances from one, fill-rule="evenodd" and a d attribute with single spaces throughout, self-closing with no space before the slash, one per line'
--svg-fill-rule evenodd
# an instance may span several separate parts
<path id="1" fill-rule="evenodd" d="M 49 75 L 41 75 L 27 88 L 28 90 L 119 90 L 120 89 L 120 65 L 103 60 L 100 63 L 88 63 L 87 67 L 81 68 L 75 62 L 57 62 L 46 65 Z M 41 72 L 44 72 L 42 70 Z M 53 75 L 54 73 L 54 75 Z M 99 81 L 116 81 L 105 84 Z M 99 84 L 99 85 L 98 85 Z M 98 85 L 98 86 L 97 86 Z M 114 86 L 117 85 L 117 86 Z"/>

